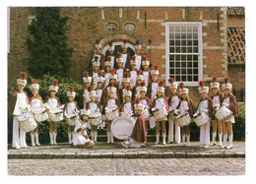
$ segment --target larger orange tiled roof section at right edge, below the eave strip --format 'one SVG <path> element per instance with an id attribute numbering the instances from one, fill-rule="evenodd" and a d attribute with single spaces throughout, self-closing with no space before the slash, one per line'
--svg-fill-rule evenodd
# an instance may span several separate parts
<path id="1" fill-rule="evenodd" d="M 245 63 L 245 28 L 227 28 L 227 62 Z"/>

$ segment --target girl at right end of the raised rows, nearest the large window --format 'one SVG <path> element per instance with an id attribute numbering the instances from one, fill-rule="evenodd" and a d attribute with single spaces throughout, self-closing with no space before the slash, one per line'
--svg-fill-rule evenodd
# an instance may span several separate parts
<path id="1" fill-rule="evenodd" d="M 156 65 L 154 67 L 154 70 L 151 70 L 152 83 L 149 83 L 148 85 L 147 96 L 150 97 L 152 100 L 155 98 L 157 94 L 157 89 L 159 88 L 159 83 L 160 83 L 160 80 L 158 79 L 160 75 L 159 69 L 160 67 Z"/>

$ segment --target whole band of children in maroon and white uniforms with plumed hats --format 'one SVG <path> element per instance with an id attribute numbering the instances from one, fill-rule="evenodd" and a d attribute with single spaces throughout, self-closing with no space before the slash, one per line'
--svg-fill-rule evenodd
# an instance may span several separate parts
<path id="1" fill-rule="evenodd" d="M 59 98 L 55 95 L 58 92 L 58 81 L 54 80 L 53 85 L 49 87 L 49 96 L 43 102 L 39 95 L 39 85 L 37 80 L 32 80 L 31 100 L 26 92 L 23 91 L 27 84 L 27 74 L 22 73 L 21 79 L 17 80 L 18 91 L 13 93 L 12 113 L 13 120 L 13 148 L 20 149 L 27 147 L 25 135 L 26 133 L 20 128 L 19 138 L 19 121 L 17 117 L 23 113 L 23 109 L 31 104 L 31 108 L 40 108 L 41 112 L 58 113 L 64 112 L 66 118 L 79 117 L 74 124 L 68 125 L 69 143 L 73 146 L 84 145 L 86 147 L 94 147 L 97 140 L 98 128 L 106 125 L 107 143 L 114 143 L 113 134 L 111 133 L 111 122 L 105 114 L 108 110 L 118 113 L 118 115 L 135 116 L 136 123 L 130 139 L 123 142 L 125 148 L 139 148 L 145 146 L 147 142 L 147 133 L 149 126 L 156 126 L 156 144 L 160 143 L 160 127 L 162 134 L 162 144 L 165 145 L 166 128 L 165 123 L 168 121 L 168 143 L 181 143 L 180 127 L 176 119 L 185 113 L 189 113 L 190 117 L 196 117 L 202 112 L 208 113 L 213 125 L 213 143 L 216 145 L 217 128 L 219 131 L 219 146 L 225 149 L 232 148 L 232 123 L 234 116 L 238 114 L 235 96 L 231 94 L 232 85 L 228 78 L 224 79 L 224 93 L 220 92 L 220 83 L 217 77 L 213 78 L 210 87 L 213 96 L 209 97 L 209 88 L 204 86 L 204 82 L 199 82 L 199 92 L 201 94 L 200 102 L 194 109 L 193 101 L 189 97 L 189 90 L 184 88 L 181 82 L 178 84 L 172 78 L 168 80 L 170 97 L 165 96 L 164 82 L 159 80 L 159 67 L 154 66 L 150 70 L 150 61 L 146 56 L 140 55 L 141 45 L 137 42 L 135 45 L 136 54 L 131 57 L 127 53 L 127 44 L 122 45 L 123 52 L 114 56 L 114 46 L 109 43 L 109 54 L 105 57 L 101 53 L 101 45 L 96 41 L 96 52 L 92 60 L 93 71 L 90 74 L 84 72 L 83 81 L 84 89 L 80 92 L 80 100 L 82 109 L 80 109 L 75 99 L 75 89 L 70 87 L 67 92 L 68 102 L 65 105 L 60 103 Z M 233 115 L 220 122 L 215 117 L 215 112 L 220 106 L 228 107 Z M 168 114 L 161 119 L 156 119 L 152 113 L 152 109 L 164 108 Z M 144 110 L 148 110 L 149 116 L 144 117 Z M 102 123 L 93 125 L 90 123 L 90 117 L 100 113 L 102 115 Z M 39 125 L 39 124 L 38 124 Z M 40 146 L 38 142 L 38 125 L 31 133 L 32 146 Z M 49 122 L 50 144 L 56 145 L 57 138 L 57 122 Z M 87 129 L 91 129 L 91 137 L 87 134 Z M 182 146 L 190 146 L 189 125 L 181 127 Z M 175 136 L 174 136 L 175 134 Z M 224 137 L 224 143 L 222 139 Z M 227 143 L 228 137 L 228 145 Z M 34 144 L 35 138 L 35 144 Z M 173 139 L 174 138 L 174 139 Z M 186 142 L 186 143 L 185 143 Z M 200 147 L 208 148 L 210 145 L 210 121 L 200 127 Z"/>

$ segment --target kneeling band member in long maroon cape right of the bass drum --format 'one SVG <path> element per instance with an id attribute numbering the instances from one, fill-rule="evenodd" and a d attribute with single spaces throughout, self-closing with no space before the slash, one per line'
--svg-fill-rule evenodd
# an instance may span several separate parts
<path id="1" fill-rule="evenodd" d="M 141 148 L 146 147 L 144 143 L 147 142 L 146 130 L 145 130 L 145 119 L 143 116 L 144 105 L 140 103 L 140 99 L 135 99 L 135 115 L 136 122 L 133 128 L 131 137 L 122 143 L 124 148 Z"/>

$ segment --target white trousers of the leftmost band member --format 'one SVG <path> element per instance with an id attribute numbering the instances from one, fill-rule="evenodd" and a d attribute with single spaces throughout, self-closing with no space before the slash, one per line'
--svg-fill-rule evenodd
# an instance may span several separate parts
<path id="1" fill-rule="evenodd" d="M 20 128 L 20 134 L 19 134 Z M 18 116 L 13 116 L 13 148 L 27 147 L 26 144 L 26 132 L 20 126 Z"/>

